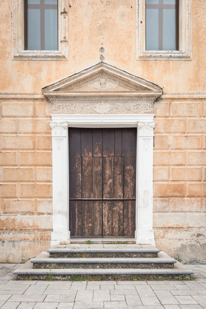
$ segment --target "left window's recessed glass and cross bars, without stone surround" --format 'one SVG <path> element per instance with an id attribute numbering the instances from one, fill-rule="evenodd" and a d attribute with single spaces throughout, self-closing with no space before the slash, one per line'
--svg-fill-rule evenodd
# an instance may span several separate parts
<path id="1" fill-rule="evenodd" d="M 25 50 L 58 50 L 57 0 L 25 0 Z"/>

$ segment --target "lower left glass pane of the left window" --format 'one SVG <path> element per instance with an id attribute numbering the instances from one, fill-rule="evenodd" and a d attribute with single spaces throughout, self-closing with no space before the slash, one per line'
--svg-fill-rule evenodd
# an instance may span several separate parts
<path id="1" fill-rule="evenodd" d="M 40 9 L 28 9 L 28 49 L 40 48 Z"/>

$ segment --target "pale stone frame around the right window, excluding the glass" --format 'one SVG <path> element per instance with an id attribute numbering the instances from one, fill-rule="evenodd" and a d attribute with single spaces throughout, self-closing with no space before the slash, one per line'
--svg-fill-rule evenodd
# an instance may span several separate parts
<path id="1" fill-rule="evenodd" d="M 192 0 L 179 0 L 179 50 L 146 50 L 146 0 L 136 0 L 136 60 L 192 60 Z"/>

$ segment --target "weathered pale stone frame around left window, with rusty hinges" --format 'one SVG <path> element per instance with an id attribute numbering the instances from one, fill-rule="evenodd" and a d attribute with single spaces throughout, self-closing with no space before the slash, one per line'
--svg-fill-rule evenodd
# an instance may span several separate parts
<path id="1" fill-rule="evenodd" d="M 24 50 L 24 0 L 12 0 L 12 59 L 68 59 L 68 0 L 58 1 L 58 50 Z"/>

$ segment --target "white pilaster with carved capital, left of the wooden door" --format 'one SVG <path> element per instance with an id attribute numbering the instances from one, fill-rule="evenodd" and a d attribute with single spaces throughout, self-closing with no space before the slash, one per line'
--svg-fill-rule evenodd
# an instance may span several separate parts
<path id="1" fill-rule="evenodd" d="M 68 123 L 50 122 L 52 129 L 53 232 L 51 245 L 68 241 Z"/>

